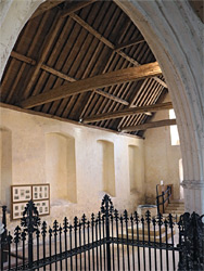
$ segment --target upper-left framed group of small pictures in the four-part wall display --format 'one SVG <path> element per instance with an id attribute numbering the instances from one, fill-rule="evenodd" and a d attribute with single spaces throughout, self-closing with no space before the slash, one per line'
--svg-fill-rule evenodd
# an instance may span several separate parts
<path id="1" fill-rule="evenodd" d="M 31 199 L 31 185 L 12 185 L 12 202 L 28 202 Z"/>

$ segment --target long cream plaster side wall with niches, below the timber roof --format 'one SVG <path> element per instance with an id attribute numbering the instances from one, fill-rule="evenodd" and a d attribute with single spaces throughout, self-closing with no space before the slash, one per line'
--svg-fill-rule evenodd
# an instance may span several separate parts
<path id="1" fill-rule="evenodd" d="M 105 193 L 102 190 L 105 176 L 102 173 L 99 141 L 111 145 L 111 151 L 105 150 L 104 158 L 110 158 L 111 152 L 112 173 L 115 176 L 114 206 L 120 211 L 125 208 L 132 211 L 138 204 L 144 203 L 144 188 L 130 194 L 128 164 L 128 145 L 137 146 L 143 170 L 143 140 L 9 108 L 1 107 L 0 113 L 1 126 L 12 134 L 12 172 L 7 180 L 1 175 L 1 184 L 51 183 L 51 220 L 99 211 Z M 73 150 L 68 142 L 72 142 Z M 140 182 L 144 184 L 144 170 L 142 172 Z M 71 183 L 69 179 L 73 180 Z M 75 201 L 68 195 L 67 186 L 71 193 L 76 192 Z M 10 185 L 8 191 L 10 193 Z M 1 201 L 10 206 L 9 198 Z"/>

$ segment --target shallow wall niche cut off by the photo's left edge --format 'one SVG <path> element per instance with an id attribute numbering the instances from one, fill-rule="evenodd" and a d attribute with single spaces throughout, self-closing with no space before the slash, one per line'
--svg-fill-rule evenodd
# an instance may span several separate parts
<path id="1" fill-rule="evenodd" d="M 0 127 L 0 203 L 11 205 L 12 185 L 12 132 Z"/>

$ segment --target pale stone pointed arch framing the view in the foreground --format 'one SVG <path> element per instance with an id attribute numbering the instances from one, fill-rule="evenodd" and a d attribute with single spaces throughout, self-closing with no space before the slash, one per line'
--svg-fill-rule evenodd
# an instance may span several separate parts
<path id="1" fill-rule="evenodd" d="M 0 76 L 21 29 L 41 2 L 10 0 L 1 3 L 1 10 L 4 9 L 7 14 L 1 22 Z M 203 24 L 188 1 L 116 2 L 143 34 L 163 69 L 181 140 L 186 209 L 204 212 L 204 96 L 200 35 Z"/>

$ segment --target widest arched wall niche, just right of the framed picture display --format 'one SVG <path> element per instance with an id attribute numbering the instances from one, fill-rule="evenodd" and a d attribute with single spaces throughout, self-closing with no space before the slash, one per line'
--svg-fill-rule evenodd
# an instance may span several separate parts
<path id="1" fill-rule="evenodd" d="M 50 199 L 77 203 L 75 139 L 67 134 L 46 134 L 46 178 L 50 183 Z"/>

